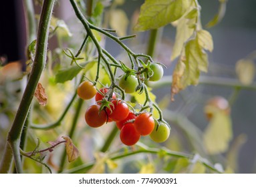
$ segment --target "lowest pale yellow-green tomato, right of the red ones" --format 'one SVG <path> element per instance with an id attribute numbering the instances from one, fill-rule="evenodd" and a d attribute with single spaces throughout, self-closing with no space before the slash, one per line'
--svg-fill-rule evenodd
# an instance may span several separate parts
<path id="1" fill-rule="evenodd" d="M 154 130 L 150 134 L 150 138 L 157 143 L 164 142 L 170 136 L 170 128 L 167 124 L 160 122 L 156 130 L 157 122 L 154 123 Z"/>

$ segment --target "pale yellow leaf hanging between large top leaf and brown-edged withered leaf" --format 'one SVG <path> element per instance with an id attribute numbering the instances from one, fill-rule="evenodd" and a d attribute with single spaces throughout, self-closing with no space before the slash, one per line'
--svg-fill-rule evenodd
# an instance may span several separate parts
<path id="1" fill-rule="evenodd" d="M 170 57 L 171 60 L 176 59 L 176 57 L 180 55 L 185 41 L 187 41 L 193 34 L 194 29 L 189 27 L 188 21 L 189 20 L 186 18 L 178 20 L 175 43 L 172 49 L 172 55 Z"/>

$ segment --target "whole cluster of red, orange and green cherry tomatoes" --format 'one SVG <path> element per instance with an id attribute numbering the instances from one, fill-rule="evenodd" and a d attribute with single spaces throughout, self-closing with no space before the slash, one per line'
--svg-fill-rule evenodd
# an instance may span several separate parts
<path id="1" fill-rule="evenodd" d="M 162 77 L 163 72 L 160 65 L 154 64 L 150 68 L 154 71 L 150 77 L 151 81 Z M 138 86 L 138 81 L 134 75 L 128 77 L 123 75 L 119 85 L 126 93 L 132 93 Z M 116 93 L 106 87 L 97 91 L 92 82 L 83 81 L 78 86 L 77 92 L 78 96 L 84 100 L 95 96 L 96 104 L 90 106 L 85 114 L 88 126 L 98 128 L 107 122 L 116 122 L 116 126 L 120 130 L 120 140 L 127 146 L 136 144 L 140 140 L 140 136 L 149 135 L 155 142 L 164 142 L 170 134 L 168 124 L 158 122 L 148 112 L 135 114 L 129 109 L 126 102 L 119 100 Z"/>

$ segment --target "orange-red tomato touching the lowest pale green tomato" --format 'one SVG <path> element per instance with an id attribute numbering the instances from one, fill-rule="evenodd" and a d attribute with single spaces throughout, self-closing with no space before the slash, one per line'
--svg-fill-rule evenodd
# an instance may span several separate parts
<path id="1" fill-rule="evenodd" d="M 136 117 L 134 126 L 140 135 L 146 136 L 154 130 L 154 118 L 148 113 L 142 113 Z"/>

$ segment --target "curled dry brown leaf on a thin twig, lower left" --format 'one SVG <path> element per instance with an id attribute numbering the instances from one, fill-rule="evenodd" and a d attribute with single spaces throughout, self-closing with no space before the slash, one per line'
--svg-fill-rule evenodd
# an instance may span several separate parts
<path id="1" fill-rule="evenodd" d="M 68 162 L 72 162 L 76 160 L 79 156 L 78 148 L 73 144 L 72 140 L 68 136 L 62 136 L 64 140 L 66 140 L 66 153 L 68 155 Z"/>

